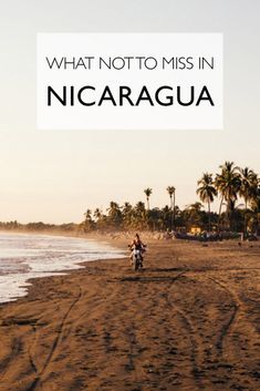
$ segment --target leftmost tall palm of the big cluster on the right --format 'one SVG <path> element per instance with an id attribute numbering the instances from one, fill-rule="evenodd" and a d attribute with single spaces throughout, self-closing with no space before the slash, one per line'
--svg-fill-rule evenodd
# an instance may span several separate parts
<path id="1" fill-rule="evenodd" d="M 212 174 L 204 173 L 201 179 L 198 181 L 197 194 L 202 203 L 208 204 L 208 230 L 211 230 L 210 222 L 210 204 L 214 202 L 214 197 L 217 196 L 218 192 L 214 187 Z"/>

